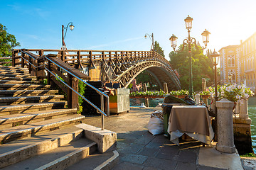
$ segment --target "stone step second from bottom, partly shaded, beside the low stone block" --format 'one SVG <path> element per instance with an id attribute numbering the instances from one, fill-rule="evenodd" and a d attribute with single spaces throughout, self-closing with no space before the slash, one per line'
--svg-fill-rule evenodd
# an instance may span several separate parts
<path id="1" fill-rule="evenodd" d="M 3 169 L 66 169 L 81 159 L 85 159 L 96 150 L 97 144 L 95 142 L 80 138 L 80 140 L 75 140 Z"/>

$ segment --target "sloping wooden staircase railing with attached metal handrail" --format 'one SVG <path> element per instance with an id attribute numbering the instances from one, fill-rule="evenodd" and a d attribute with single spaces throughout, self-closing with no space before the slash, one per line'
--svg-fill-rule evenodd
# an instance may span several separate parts
<path id="1" fill-rule="evenodd" d="M 104 129 L 104 115 L 110 115 L 109 97 L 107 94 L 99 89 L 96 89 L 94 86 L 85 81 L 85 79 L 88 80 L 90 77 L 82 74 L 80 71 L 78 71 L 78 69 L 71 67 L 70 64 L 58 59 L 57 55 L 49 54 L 38 56 L 23 49 L 13 50 L 12 61 L 13 66 L 21 64 L 21 67 L 28 67 L 29 73 L 36 75 L 37 79 L 47 78 L 47 84 L 50 85 L 50 82 L 54 82 L 57 86 L 59 86 L 60 89 L 67 94 L 68 108 L 78 108 L 78 96 L 80 96 L 93 108 L 95 108 L 97 113 L 102 115 L 102 130 Z M 45 71 L 48 72 L 47 76 Z M 90 88 L 95 90 L 97 94 L 100 94 L 100 108 L 79 93 L 78 81 L 90 86 Z M 106 106 L 104 97 L 107 98 Z"/>

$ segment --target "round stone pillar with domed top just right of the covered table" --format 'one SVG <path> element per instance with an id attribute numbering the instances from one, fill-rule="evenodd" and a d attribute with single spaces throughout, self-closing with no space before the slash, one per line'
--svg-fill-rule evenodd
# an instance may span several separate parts
<path id="1" fill-rule="evenodd" d="M 223 98 L 216 102 L 218 108 L 218 143 L 216 149 L 220 152 L 235 153 L 233 133 L 233 106 L 234 103 Z"/>

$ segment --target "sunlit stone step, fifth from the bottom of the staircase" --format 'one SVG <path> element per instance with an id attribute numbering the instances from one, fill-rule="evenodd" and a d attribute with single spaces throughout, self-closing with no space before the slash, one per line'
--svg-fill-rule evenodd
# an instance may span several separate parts
<path id="1" fill-rule="evenodd" d="M 43 120 L 60 118 L 65 115 L 77 113 L 77 108 L 52 109 L 48 111 L 37 111 L 30 113 L 19 113 L 15 115 L 1 115 L 0 129 L 11 128 L 17 125 L 26 125 Z"/>

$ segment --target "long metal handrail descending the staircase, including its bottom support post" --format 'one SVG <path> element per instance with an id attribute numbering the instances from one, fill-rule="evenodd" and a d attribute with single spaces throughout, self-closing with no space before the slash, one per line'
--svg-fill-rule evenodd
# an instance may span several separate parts
<path id="1" fill-rule="evenodd" d="M 28 55 L 29 57 L 33 58 L 33 60 L 36 60 L 35 57 L 33 57 L 32 55 L 28 54 L 27 52 L 21 50 L 21 52 L 26 53 L 26 55 Z M 21 56 L 22 57 L 22 56 Z M 49 60 L 50 62 L 53 62 L 53 60 L 50 60 L 48 57 L 46 57 L 46 55 L 43 55 L 44 58 L 46 58 L 47 60 Z M 26 60 L 26 58 L 22 57 L 23 60 Z M 34 64 L 32 64 L 31 62 L 29 62 L 28 60 L 26 60 L 29 64 L 31 64 L 34 68 L 37 68 Z M 82 99 L 84 99 L 85 101 L 87 101 L 87 103 L 89 103 L 93 108 L 95 108 L 97 110 L 98 113 L 101 113 L 102 115 L 102 130 L 104 130 L 104 116 L 110 115 L 110 100 L 109 100 L 109 96 L 107 96 L 107 94 L 103 93 L 102 91 L 100 91 L 99 89 L 95 88 L 94 86 L 88 84 L 86 81 L 80 79 L 79 77 L 77 77 L 75 74 L 69 72 L 67 69 L 61 67 L 59 64 L 53 62 L 54 64 L 56 64 L 58 67 L 60 67 L 61 69 L 65 70 L 65 72 L 68 72 L 68 74 L 71 74 L 73 77 L 79 79 L 80 81 L 82 81 L 84 84 L 86 84 L 87 86 L 90 86 L 90 88 L 94 89 L 95 91 L 97 91 L 97 94 L 100 94 L 101 96 L 101 107 L 104 108 L 104 99 L 102 98 L 103 96 L 105 96 L 107 98 L 107 114 L 104 113 L 100 108 L 98 108 L 97 106 L 95 106 L 95 104 L 93 104 L 92 102 L 90 102 L 87 98 L 85 98 L 84 96 L 82 96 L 81 94 L 79 94 L 78 91 L 75 91 L 75 89 L 73 89 L 71 86 L 69 86 L 68 84 L 66 84 L 62 79 L 60 79 L 58 76 L 56 76 L 55 74 L 53 74 L 53 72 L 50 72 L 49 69 L 46 68 L 46 64 L 40 65 L 38 67 L 44 66 L 44 68 L 50 73 L 53 74 L 54 77 L 56 77 L 57 79 L 59 79 L 63 84 L 65 84 L 65 86 L 68 86 L 68 88 L 70 88 L 72 91 L 74 91 L 76 94 L 78 94 L 78 96 L 80 96 Z"/>

